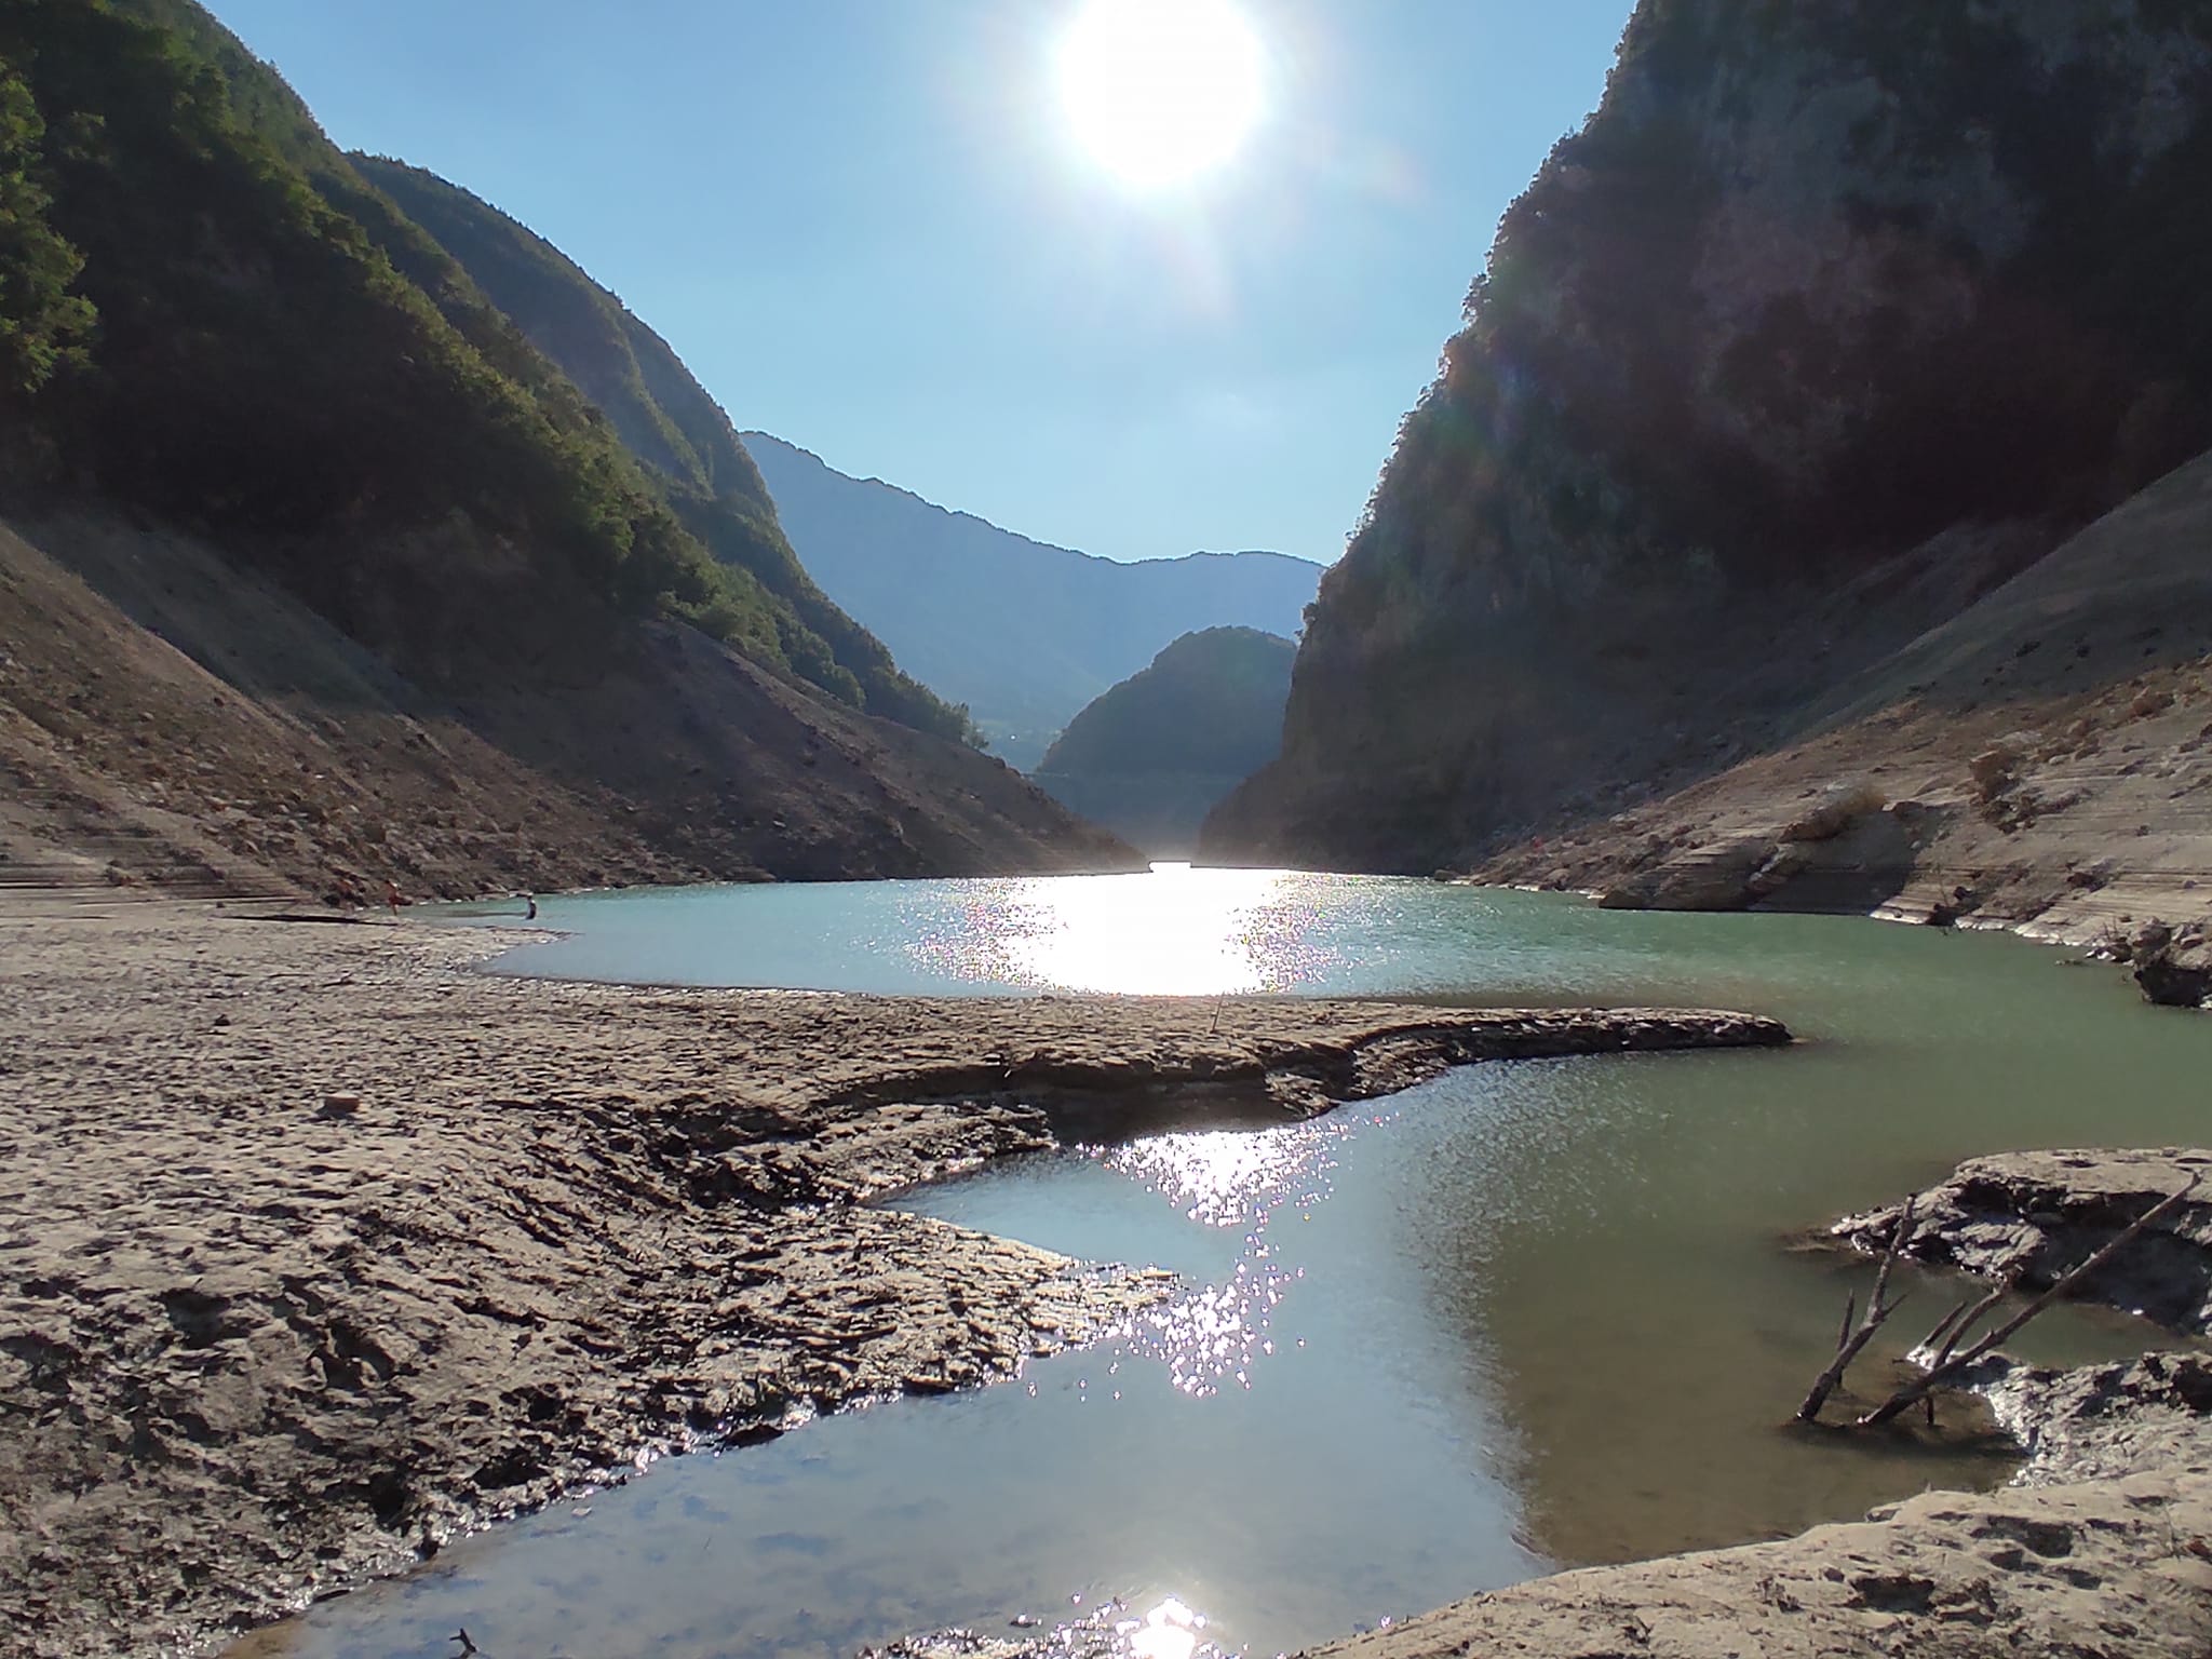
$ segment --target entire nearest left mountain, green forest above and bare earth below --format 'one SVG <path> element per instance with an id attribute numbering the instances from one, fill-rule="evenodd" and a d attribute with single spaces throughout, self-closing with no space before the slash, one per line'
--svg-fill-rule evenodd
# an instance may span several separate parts
<path id="1" fill-rule="evenodd" d="M 197 4 L 0 7 L 0 274 L 9 878 L 1130 858 L 911 684 L 865 714 L 896 670 L 697 409 L 655 387 L 697 465 L 641 465 Z"/>

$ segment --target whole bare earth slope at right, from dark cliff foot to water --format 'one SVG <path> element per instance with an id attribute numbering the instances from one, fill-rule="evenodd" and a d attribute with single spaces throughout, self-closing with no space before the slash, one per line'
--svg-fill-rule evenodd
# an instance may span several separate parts
<path id="1" fill-rule="evenodd" d="M 2212 920 L 2212 458 L 1843 679 L 1809 737 L 1551 825 L 1491 880 L 1621 905 Z M 1756 734 L 1754 739 L 1756 741 Z M 1834 810 L 1832 810 L 1834 807 Z"/>

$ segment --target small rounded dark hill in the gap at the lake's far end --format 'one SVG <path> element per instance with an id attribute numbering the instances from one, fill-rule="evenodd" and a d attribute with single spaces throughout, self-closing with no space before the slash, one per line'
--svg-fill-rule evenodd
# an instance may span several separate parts
<path id="1" fill-rule="evenodd" d="M 1035 779 L 1155 858 L 1188 858 L 1221 796 L 1283 748 L 1298 648 L 1259 628 L 1186 633 L 1084 708 Z"/>

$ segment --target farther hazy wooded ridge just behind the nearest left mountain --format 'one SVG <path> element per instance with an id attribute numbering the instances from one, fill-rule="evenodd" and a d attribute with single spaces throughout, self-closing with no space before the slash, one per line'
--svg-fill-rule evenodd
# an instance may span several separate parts
<path id="1" fill-rule="evenodd" d="M 349 159 L 606 414 L 692 535 L 783 604 L 779 644 L 805 679 L 872 714 L 969 734 L 962 710 L 902 675 L 883 641 L 814 586 L 730 418 L 659 334 L 553 243 L 460 186 L 403 161 Z"/>

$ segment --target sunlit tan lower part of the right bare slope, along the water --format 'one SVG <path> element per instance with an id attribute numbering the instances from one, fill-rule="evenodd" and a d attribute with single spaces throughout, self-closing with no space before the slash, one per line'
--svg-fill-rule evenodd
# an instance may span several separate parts
<path id="1" fill-rule="evenodd" d="M 2152 936 L 2179 969 L 2159 1000 L 2205 1004 L 2208 661 L 2088 690 L 2022 688 L 1971 712 L 1882 701 L 1876 714 L 1655 781 L 1610 816 L 1509 836 L 1469 878 L 1582 891 L 1615 909 L 2002 927 L 2121 958 Z"/>

